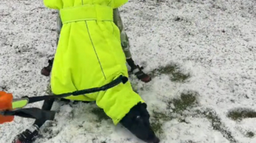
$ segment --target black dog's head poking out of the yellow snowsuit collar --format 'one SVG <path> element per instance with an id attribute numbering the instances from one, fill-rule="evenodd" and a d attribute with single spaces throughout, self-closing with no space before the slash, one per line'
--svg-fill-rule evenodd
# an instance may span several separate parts
<path id="1" fill-rule="evenodd" d="M 137 138 L 147 143 L 159 143 L 160 140 L 151 128 L 149 118 L 146 104 L 139 102 L 125 115 L 120 123 Z"/>

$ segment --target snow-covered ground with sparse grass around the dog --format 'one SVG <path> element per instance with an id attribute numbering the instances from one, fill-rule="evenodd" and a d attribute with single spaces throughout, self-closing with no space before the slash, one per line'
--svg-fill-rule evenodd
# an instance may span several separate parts
<path id="1" fill-rule="evenodd" d="M 255 5 L 255 0 L 130 0 L 121 8 L 133 57 L 154 75 L 146 84 L 131 80 L 161 142 L 256 142 Z M 0 90 L 14 97 L 45 94 L 49 77 L 40 70 L 54 55 L 55 20 L 56 12 L 43 8 L 41 0 L 0 1 Z M 141 142 L 113 126 L 95 104 L 56 102 L 53 110 L 56 120 L 43 126 L 36 142 Z M 239 111 L 243 118 L 235 120 Z M 32 123 L 16 117 L 1 125 L 0 142 L 11 142 Z"/>

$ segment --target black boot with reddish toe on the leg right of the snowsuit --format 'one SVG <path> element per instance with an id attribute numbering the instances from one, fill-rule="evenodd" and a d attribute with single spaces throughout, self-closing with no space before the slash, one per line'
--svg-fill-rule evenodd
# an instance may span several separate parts
<path id="1" fill-rule="evenodd" d="M 134 75 L 136 75 L 137 79 L 139 79 L 143 82 L 150 82 L 151 81 L 151 77 L 142 71 L 143 67 L 140 67 L 139 65 L 136 65 L 132 58 L 126 59 L 126 62 L 131 67 L 130 73 L 134 73 Z"/>

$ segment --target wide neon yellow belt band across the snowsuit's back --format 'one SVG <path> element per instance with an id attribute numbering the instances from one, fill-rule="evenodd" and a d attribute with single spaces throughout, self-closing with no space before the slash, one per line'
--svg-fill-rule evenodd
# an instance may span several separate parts
<path id="1" fill-rule="evenodd" d="M 76 21 L 113 21 L 113 8 L 102 5 L 82 5 L 60 10 L 62 23 Z"/>

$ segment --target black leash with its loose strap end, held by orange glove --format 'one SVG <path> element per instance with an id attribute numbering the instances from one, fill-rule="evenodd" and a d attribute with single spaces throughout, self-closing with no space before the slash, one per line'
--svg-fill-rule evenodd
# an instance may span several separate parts
<path id="1" fill-rule="evenodd" d="M 70 95 L 85 95 L 88 93 L 94 93 L 94 92 L 99 92 L 99 91 L 105 91 L 110 88 L 113 88 L 114 86 L 117 86 L 121 82 L 125 84 L 128 81 L 127 77 L 124 77 L 120 75 L 117 79 L 111 81 L 108 84 L 105 84 L 104 86 L 101 86 L 99 88 L 89 88 L 86 90 L 78 90 L 78 91 L 73 91 L 70 93 L 63 93 L 60 95 L 43 95 L 39 97 L 26 97 L 29 99 L 29 103 L 34 103 L 38 102 L 41 100 L 47 100 L 47 99 L 59 99 L 59 98 L 64 98 L 64 97 L 69 97 Z M 40 108 L 23 108 L 19 110 L 12 110 L 12 111 L 0 111 L 0 115 L 5 115 L 5 116 L 19 116 L 19 117 L 24 117 L 24 118 L 31 118 L 31 119 L 43 119 L 43 120 L 53 120 L 55 116 L 54 111 L 46 111 L 46 110 L 41 110 Z"/>

